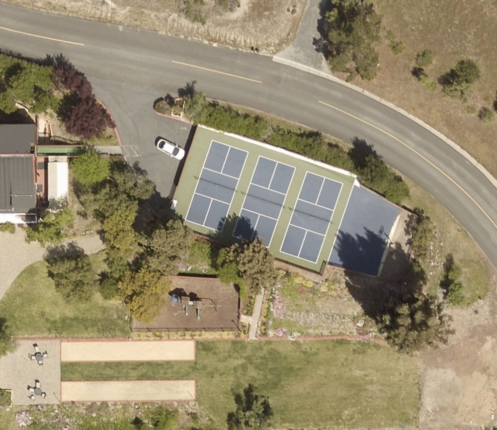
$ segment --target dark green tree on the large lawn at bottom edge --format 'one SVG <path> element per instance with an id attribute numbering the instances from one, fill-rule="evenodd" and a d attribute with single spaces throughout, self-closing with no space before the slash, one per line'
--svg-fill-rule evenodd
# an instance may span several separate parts
<path id="1" fill-rule="evenodd" d="M 266 430 L 271 427 L 273 411 L 269 398 L 257 394 L 256 390 L 248 384 L 243 393 L 235 393 L 237 409 L 228 414 L 228 430 Z"/>

